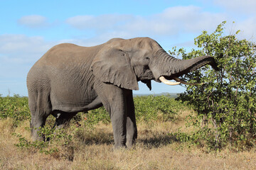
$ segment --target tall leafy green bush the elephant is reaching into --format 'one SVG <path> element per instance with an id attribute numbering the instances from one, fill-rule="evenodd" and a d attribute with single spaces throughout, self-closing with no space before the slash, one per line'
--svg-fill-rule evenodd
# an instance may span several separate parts
<path id="1" fill-rule="evenodd" d="M 190 135 L 194 141 L 205 141 L 208 147 L 221 148 L 228 143 L 250 147 L 256 134 L 256 46 L 248 40 L 239 40 L 239 30 L 224 35 L 225 22 L 211 34 L 203 31 L 195 39 L 199 50 L 178 53 L 183 59 L 201 55 L 215 58 L 220 68 L 215 72 L 210 66 L 183 76 L 186 81 L 206 82 L 201 86 L 186 86 L 186 92 L 178 99 L 188 102 L 198 113 L 191 118 L 198 130 Z"/>

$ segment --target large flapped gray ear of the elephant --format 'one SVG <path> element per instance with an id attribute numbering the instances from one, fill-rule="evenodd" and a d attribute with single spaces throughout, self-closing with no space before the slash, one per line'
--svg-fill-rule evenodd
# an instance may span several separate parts
<path id="1" fill-rule="evenodd" d="M 101 81 L 124 89 L 139 90 L 137 76 L 126 52 L 116 48 L 100 50 L 92 60 L 92 72 Z"/>

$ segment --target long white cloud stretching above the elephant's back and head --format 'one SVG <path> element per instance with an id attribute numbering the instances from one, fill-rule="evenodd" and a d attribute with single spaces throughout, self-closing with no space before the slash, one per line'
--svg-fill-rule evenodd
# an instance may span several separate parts
<path id="1" fill-rule="evenodd" d="M 98 35 L 113 34 L 125 38 L 144 35 L 177 35 L 213 29 L 226 20 L 223 13 L 204 12 L 197 6 L 175 6 L 151 16 L 108 14 L 101 16 L 74 16 L 68 25 L 80 30 L 93 30 Z"/>

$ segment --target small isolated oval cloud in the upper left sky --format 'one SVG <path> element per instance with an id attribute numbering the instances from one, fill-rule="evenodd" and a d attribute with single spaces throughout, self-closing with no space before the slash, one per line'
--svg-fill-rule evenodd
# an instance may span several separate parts
<path id="1" fill-rule="evenodd" d="M 28 28 L 44 28 L 49 25 L 47 18 L 39 15 L 23 16 L 18 23 Z"/>

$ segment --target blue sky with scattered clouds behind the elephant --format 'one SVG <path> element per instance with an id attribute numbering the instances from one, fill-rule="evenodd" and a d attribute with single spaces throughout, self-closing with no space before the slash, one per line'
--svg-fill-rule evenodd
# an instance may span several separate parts
<path id="1" fill-rule="evenodd" d="M 0 94 L 27 96 L 26 74 L 53 45 L 92 46 L 111 38 L 150 37 L 164 50 L 185 47 L 222 21 L 227 33 L 255 42 L 255 0 L 19 1 L 0 0 Z M 235 21 L 235 23 L 233 23 Z M 136 94 L 181 93 L 182 86 L 154 82 Z"/>

